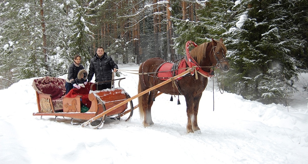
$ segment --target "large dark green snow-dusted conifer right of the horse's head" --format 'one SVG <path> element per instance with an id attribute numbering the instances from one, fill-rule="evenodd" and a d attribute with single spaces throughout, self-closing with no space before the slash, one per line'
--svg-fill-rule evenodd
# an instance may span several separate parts
<path id="1" fill-rule="evenodd" d="M 288 1 L 247 0 L 240 7 L 238 23 L 225 36 L 231 49 L 232 71 L 225 89 L 244 98 L 264 103 L 285 103 L 295 88 L 292 81 L 302 71 L 291 54 L 302 49 L 294 36 Z M 290 24 L 291 23 L 291 24 Z M 305 44 L 302 42 L 302 44 Z"/>

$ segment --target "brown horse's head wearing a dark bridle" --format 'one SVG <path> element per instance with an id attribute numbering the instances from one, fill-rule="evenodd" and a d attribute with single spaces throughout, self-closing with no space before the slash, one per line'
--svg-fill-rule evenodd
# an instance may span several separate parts
<path id="1" fill-rule="evenodd" d="M 215 41 L 212 38 L 212 42 L 210 44 L 210 61 L 212 66 L 217 66 L 217 68 L 220 68 L 224 72 L 229 71 L 230 66 L 228 59 L 226 58 L 227 48 L 222 43 L 222 38 L 219 41 Z"/>

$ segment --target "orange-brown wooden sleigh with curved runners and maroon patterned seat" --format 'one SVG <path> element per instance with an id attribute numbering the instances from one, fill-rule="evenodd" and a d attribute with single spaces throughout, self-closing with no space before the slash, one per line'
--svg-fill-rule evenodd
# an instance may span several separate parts
<path id="1" fill-rule="evenodd" d="M 123 79 L 125 78 L 117 79 L 119 86 Z M 65 95 L 65 79 L 56 77 L 34 79 L 32 86 L 36 92 L 39 112 L 33 113 L 33 115 L 55 116 L 55 120 L 58 116 L 68 117 L 71 119 L 71 124 L 76 124 L 73 123 L 73 119 L 89 120 L 130 98 L 122 87 L 96 90 L 97 84 L 99 83 L 88 83 L 84 88 L 74 88 Z M 128 109 L 128 104 L 130 109 Z M 128 121 L 133 115 L 132 101 L 100 116 L 98 119 L 100 121 L 94 125 L 94 128 L 101 128 L 106 117 L 120 119 L 127 113 L 130 114 L 125 121 Z"/>

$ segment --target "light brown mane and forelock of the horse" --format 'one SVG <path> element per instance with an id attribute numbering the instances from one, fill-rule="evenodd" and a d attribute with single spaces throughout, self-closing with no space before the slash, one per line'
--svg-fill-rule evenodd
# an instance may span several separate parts
<path id="1" fill-rule="evenodd" d="M 225 53 L 227 53 L 227 47 L 221 41 L 216 40 L 216 42 L 217 42 L 216 50 L 220 50 L 222 48 L 222 50 Z M 210 43 L 211 42 L 202 43 L 201 45 L 198 45 L 197 47 L 191 50 L 191 57 L 194 58 L 198 64 L 200 64 L 207 55 L 206 48 Z"/>

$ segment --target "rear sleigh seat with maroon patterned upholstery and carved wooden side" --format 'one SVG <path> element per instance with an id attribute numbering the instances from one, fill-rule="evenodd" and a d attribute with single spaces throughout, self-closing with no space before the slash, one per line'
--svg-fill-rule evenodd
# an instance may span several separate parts
<path id="1" fill-rule="evenodd" d="M 33 80 L 32 87 L 36 92 L 39 113 L 63 112 L 65 79 L 49 76 L 38 78 Z"/>

